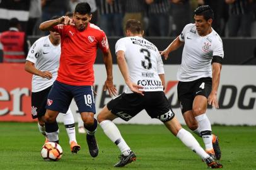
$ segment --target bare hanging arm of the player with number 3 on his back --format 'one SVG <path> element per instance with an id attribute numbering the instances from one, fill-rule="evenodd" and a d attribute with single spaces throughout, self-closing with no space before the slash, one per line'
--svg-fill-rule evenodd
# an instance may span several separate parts
<path id="1" fill-rule="evenodd" d="M 144 96 L 143 91 L 140 89 L 143 89 L 143 86 L 139 86 L 131 81 L 129 76 L 128 67 L 125 61 L 124 57 L 124 51 L 119 50 L 117 52 L 117 64 L 119 65 L 119 69 L 122 73 L 122 76 L 124 77 L 125 84 L 133 91 L 134 93 L 138 93 Z"/>

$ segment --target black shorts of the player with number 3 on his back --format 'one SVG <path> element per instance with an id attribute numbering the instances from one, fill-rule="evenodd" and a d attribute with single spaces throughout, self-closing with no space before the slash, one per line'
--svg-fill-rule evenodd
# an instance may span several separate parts
<path id="1" fill-rule="evenodd" d="M 168 122 L 175 115 L 163 91 L 144 92 L 144 96 L 136 93 L 122 93 L 109 101 L 107 108 L 125 121 L 130 120 L 142 110 L 146 110 L 151 118 L 158 118 L 161 122 Z"/>

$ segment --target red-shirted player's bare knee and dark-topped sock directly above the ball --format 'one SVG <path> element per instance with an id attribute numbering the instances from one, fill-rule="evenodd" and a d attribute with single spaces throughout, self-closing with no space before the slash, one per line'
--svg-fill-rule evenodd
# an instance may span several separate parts
<path id="1" fill-rule="evenodd" d="M 56 118 L 59 115 L 59 111 L 46 110 L 44 121 L 45 121 L 45 132 L 49 142 L 59 143 L 59 127 L 56 122 Z"/>

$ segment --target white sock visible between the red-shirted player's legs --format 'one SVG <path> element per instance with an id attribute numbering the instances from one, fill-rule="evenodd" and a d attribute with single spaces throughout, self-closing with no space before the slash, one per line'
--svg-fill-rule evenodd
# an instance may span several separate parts
<path id="1" fill-rule="evenodd" d="M 71 144 L 72 141 L 76 142 L 76 129 L 74 127 L 74 117 L 72 111 L 69 108 L 66 114 L 61 114 L 63 116 L 64 125 L 67 130 L 67 135 L 69 136 L 69 144 Z"/>

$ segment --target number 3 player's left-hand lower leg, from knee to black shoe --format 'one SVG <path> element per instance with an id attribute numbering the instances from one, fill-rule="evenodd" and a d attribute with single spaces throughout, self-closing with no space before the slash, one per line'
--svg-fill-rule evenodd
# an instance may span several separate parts
<path id="1" fill-rule="evenodd" d="M 108 110 L 107 106 L 104 106 L 102 111 L 98 114 L 97 120 L 107 137 L 112 140 L 112 142 L 116 144 L 122 152 L 119 157 L 120 160 L 115 164 L 115 167 L 123 167 L 126 164 L 136 161 L 136 155 L 122 138 L 122 135 L 115 123 L 112 122 L 115 118 L 117 118 L 117 116 L 113 115 L 113 113 Z"/>

